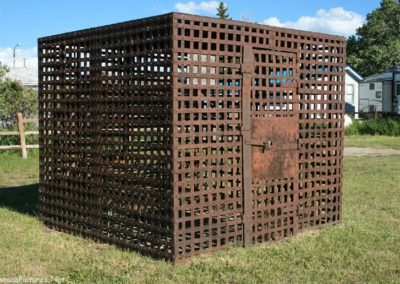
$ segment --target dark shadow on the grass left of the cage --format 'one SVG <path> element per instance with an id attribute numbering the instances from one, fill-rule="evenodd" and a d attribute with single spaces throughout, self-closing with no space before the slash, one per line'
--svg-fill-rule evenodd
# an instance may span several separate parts
<path id="1" fill-rule="evenodd" d="M 0 207 L 37 216 L 39 212 L 39 185 L 30 184 L 0 188 Z"/>

